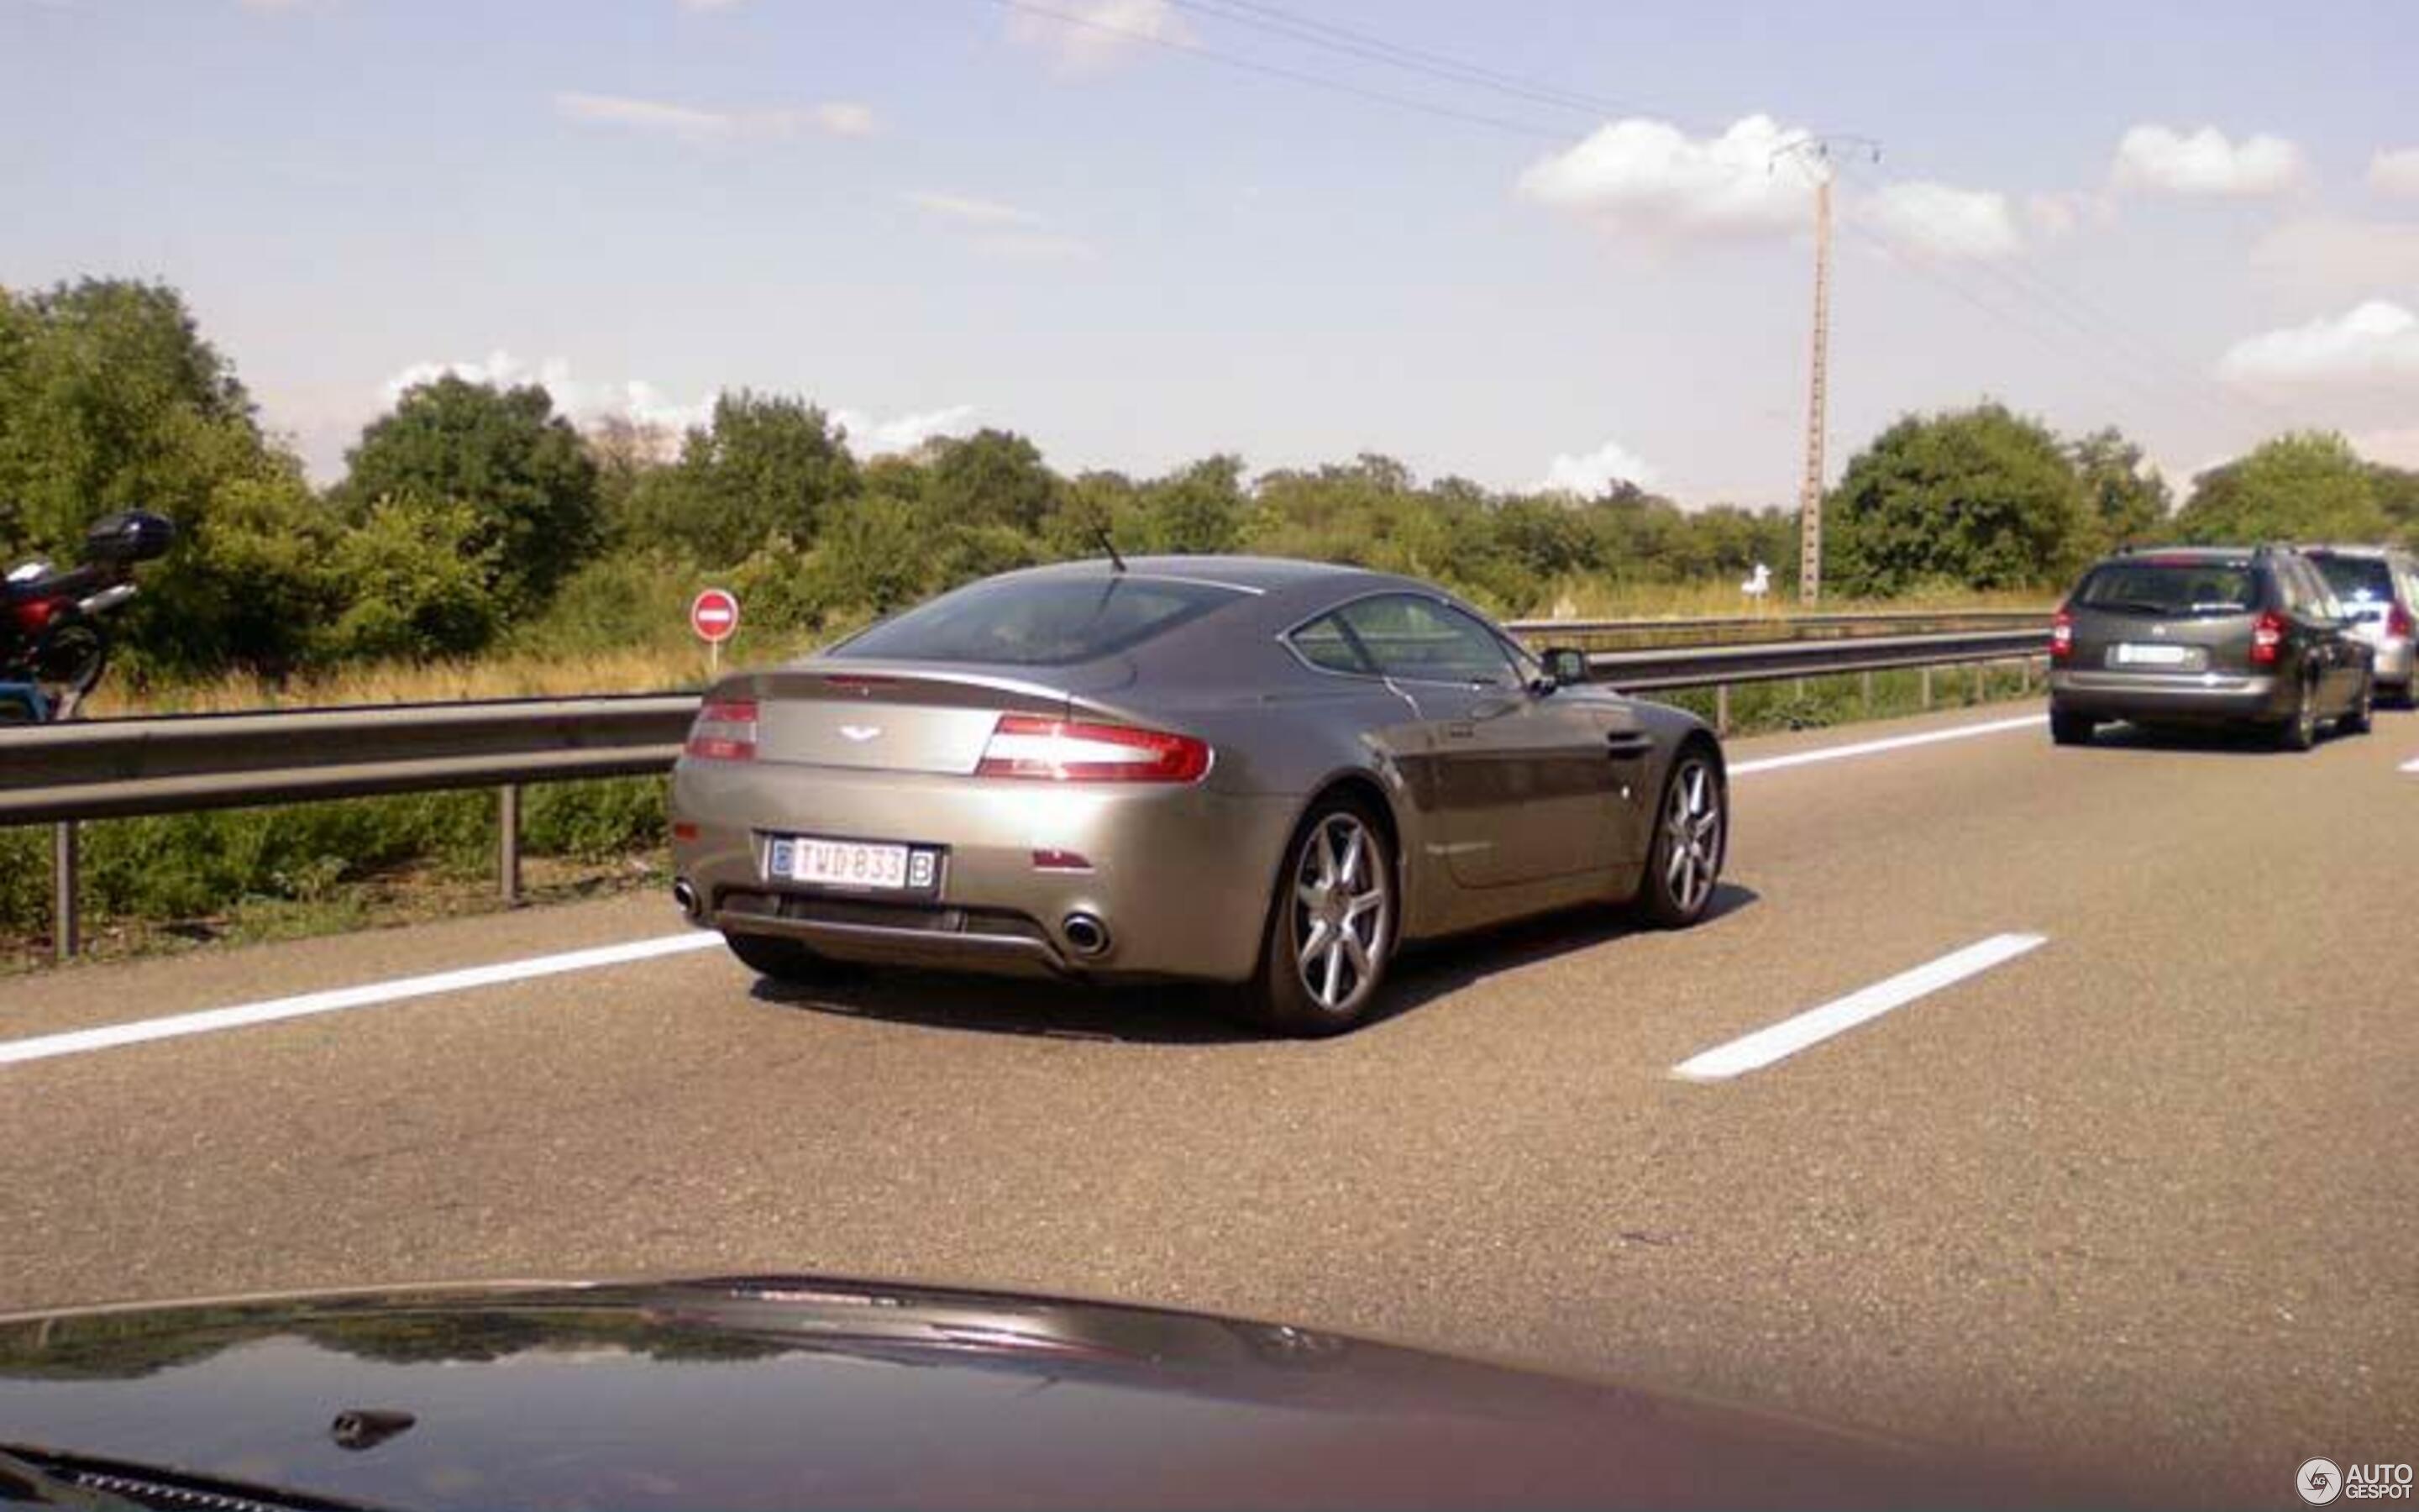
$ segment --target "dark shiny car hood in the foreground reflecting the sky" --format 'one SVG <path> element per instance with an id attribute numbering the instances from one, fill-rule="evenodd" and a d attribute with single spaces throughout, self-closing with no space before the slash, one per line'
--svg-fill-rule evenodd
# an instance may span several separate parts
<path id="1" fill-rule="evenodd" d="M 356 1422 L 348 1447 L 343 1413 L 411 1425 Z M 825 1277 L 10 1318 L 0 1444 L 385 1507 L 2056 1495 L 1778 1415 L 1330 1333 Z"/>

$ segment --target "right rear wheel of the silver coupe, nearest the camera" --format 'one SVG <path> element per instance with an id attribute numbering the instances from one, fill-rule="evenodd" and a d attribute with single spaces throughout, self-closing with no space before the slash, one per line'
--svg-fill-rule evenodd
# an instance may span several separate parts
<path id="1" fill-rule="evenodd" d="M 1284 847 L 1260 970 L 1241 1016 L 1277 1035 L 1326 1038 L 1367 1023 L 1401 927 L 1393 842 L 1357 798 L 1326 798 Z"/>

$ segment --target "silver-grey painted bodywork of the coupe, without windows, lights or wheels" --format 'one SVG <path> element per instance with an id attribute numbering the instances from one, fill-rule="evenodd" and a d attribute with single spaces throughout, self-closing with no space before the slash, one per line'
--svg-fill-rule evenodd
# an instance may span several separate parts
<path id="1" fill-rule="evenodd" d="M 1113 571 L 1084 561 L 1011 576 Z M 1333 673 L 1287 641 L 1369 595 L 1478 614 L 1427 583 L 1214 556 L 1135 559 L 1127 571 L 1239 598 L 1079 665 L 864 660 L 842 646 L 718 682 L 709 702 L 757 699 L 760 731 L 755 760 L 682 757 L 672 774 L 672 859 L 702 919 L 856 960 L 1241 982 L 1258 965 L 1287 844 L 1321 793 L 1345 786 L 1381 806 L 1398 936 L 1432 939 L 1633 895 L 1676 750 L 1696 740 L 1720 762 L 1696 716 L 1529 682 L 1534 658 L 1519 682 L 1473 687 Z M 1214 762 L 1183 786 L 977 779 L 992 721 L 1011 711 L 1185 733 Z M 946 856 L 929 895 L 851 900 L 769 883 L 776 832 Z M 1045 849 L 1091 866 L 1043 871 L 1033 852 Z M 1103 919 L 1110 948 L 1074 951 L 1072 914 Z"/>

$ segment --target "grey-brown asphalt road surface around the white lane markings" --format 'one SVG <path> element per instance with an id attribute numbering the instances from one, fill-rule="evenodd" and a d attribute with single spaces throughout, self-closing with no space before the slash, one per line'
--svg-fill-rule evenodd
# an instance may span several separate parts
<path id="1" fill-rule="evenodd" d="M 1737 743 L 1734 762 L 2005 709 Z M 1183 994 L 718 948 L 0 1064 L 0 1309 L 832 1270 L 1275 1316 L 2296 1505 L 2419 1459 L 2419 716 L 2305 757 L 2025 728 L 1744 772 L 1720 917 Z M 0 987 L 0 1040 L 668 934 L 520 912 Z M 1998 934 L 1727 1081 L 1705 1048 Z M 5 1045 L 0 1045 L 5 1048 Z"/>

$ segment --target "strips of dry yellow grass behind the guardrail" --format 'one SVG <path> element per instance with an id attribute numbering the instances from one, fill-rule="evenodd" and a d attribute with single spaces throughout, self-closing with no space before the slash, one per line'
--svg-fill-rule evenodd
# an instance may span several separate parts
<path id="1" fill-rule="evenodd" d="M 1778 598 L 1778 595 L 1776 595 Z M 1553 602 L 1575 619 L 1693 619 L 1756 612 L 1737 583 L 1577 583 Z M 1766 600 L 1773 619 L 1785 619 L 1795 602 Z M 1969 593 L 1940 600 L 1826 600 L 1826 612 L 1848 610 L 2039 610 L 2049 602 L 2027 593 Z M 1538 614 L 1546 617 L 1546 614 Z M 767 644 L 757 636 L 726 665 L 772 663 L 808 646 Z M 375 663 L 341 668 L 314 677 L 295 677 L 283 687 L 249 675 L 213 682 L 138 687 L 123 680 L 102 682 L 90 704 L 94 719 L 126 714 L 242 714 L 254 709 L 331 709 L 348 704 L 450 704 L 462 699 L 539 699 L 605 692 L 694 689 L 706 680 L 704 646 L 631 646 L 581 656 L 508 653 L 481 660 Z"/>

